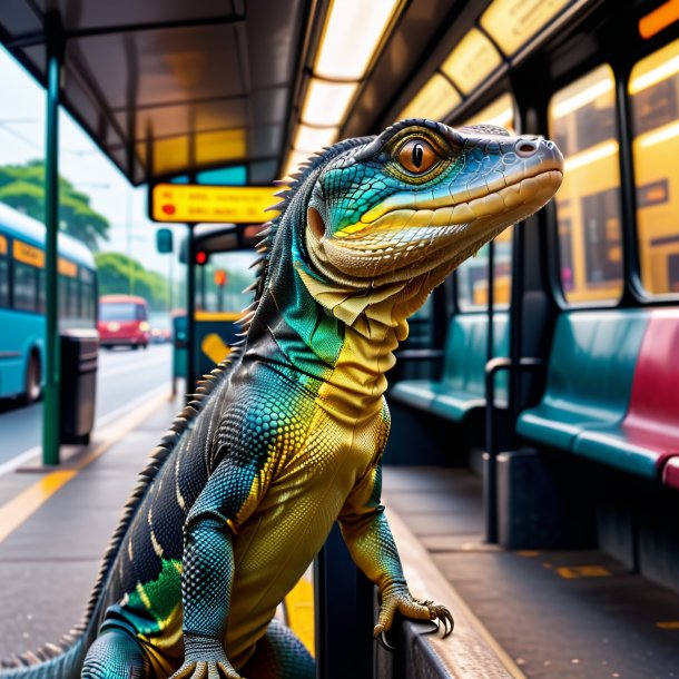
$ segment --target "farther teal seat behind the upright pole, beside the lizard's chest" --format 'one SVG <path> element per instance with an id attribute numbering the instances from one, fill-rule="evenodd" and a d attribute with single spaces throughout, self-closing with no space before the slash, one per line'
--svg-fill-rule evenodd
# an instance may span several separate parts
<path id="1" fill-rule="evenodd" d="M 509 354 L 509 319 L 495 314 L 493 344 L 496 356 Z M 461 422 L 474 409 L 485 406 L 488 316 L 455 314 L 449 326 L 441 380 L 404 380 L 390 397 L 400 403 Z M 495 377 L 496 400 L 506 402 L 506 374 Z"/>

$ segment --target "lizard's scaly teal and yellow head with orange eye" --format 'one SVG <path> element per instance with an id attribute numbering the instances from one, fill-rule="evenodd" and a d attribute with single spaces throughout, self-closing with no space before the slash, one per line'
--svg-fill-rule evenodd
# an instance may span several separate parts
<path id="1" fill-rule="evenodd" d="M 366 286 L 452 270 L 561 184 L 557 146 L 493 126 L 404 120 L 337 155 L 306 208 L 306 249 L 335 282 Z"/>

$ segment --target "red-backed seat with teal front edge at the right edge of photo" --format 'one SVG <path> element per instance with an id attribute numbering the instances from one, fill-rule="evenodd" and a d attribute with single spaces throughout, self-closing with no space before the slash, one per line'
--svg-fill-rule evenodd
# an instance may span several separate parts
<path id="1" fill-rule="evenodd" d="M 679 455 L 678 385 L 679 308 L 651 312 L 624 420 L 606 430 L 579 434 L 573 452 L 659 479 L 668 459 Z"/>

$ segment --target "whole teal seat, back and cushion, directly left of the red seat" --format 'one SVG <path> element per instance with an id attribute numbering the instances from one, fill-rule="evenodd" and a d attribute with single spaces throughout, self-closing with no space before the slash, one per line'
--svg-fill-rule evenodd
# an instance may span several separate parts
<path id="1" fill-rule="evenodd" d="M 519 415 L 522 436 L 565 451 L 584 431 L 620 423 L 649 321 L 640 309 L 559 316 L 541 403 Z"/>

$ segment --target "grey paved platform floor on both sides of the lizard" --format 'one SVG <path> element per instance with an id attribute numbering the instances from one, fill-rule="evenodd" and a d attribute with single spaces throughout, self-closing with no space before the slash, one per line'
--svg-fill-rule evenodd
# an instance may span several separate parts
<path id="1" fill-rule="evenodd" d="M 80 620 L 137 473 L 179 407 L 158 393 L 87 449 L 67 450 L 59 469 L 29 462 L 0 475 L 1 658 Z M 483 543 L 470 472 L 386 466 L 384 502 L 413 594 L 447 606 L 455 630 L 442 639 L 402 624 L 388 634 L 397 651 L 376 653 L 375 677 L 679 676 L 679 597 L 600 552 Z M 599 577 L 577 575 L 587 572 Z"/>

